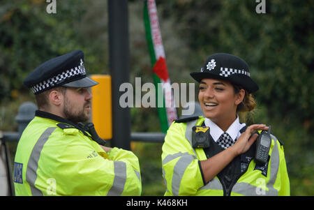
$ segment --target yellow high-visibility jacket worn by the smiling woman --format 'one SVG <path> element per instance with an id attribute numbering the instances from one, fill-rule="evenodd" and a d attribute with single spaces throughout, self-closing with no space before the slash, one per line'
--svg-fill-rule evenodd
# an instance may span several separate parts
<path id="1" fill-rule="evenodd" d="M 207 160 L 207 155 L 204 149 L 191 146 L 192 128 L 203 122 L 203 117 L 174 121 L 167 130 L 161 156 L 165 195 L 290 195 L 283 146 L 274 135 L 267 165 L 256 165 L 252 152 L 251 156 L 247 153 L 234 160 L 241 168 L 237 169 L 238 176 L 231 176 L 228 187 L 219 174 L 204 183 L 200 160 Z"/>

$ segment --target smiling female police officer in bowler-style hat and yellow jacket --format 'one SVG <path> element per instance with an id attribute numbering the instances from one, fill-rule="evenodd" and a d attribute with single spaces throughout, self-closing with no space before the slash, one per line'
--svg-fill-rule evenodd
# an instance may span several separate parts
<path id="1" fill-rule="evenodd" d="M 269 137 L 267 161 L 255 158 L 263 124 L 246 126 L 237 112 L 254 109 L 257 84 L 247 63 L 232 54 L 212 54 L 200 72 L 204 117 L 174 121 L 163 144 L 165 195 L 290 195 L 283 145 Z M 267 157 L 268 156 L 268 157 Z"/>

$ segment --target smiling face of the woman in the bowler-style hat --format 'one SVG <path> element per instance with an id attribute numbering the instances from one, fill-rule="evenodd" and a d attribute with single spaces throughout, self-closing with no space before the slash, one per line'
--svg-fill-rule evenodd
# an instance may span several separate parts
<path id="1" fill-rule="evenodd" d="M 226 80 L 202 79 L 198 100 L 204 117 L 211 119 L 217 125 L 234 121 L 237 105 L 244 97 L 242 91 L 235 94 L 233 85 Z"/>

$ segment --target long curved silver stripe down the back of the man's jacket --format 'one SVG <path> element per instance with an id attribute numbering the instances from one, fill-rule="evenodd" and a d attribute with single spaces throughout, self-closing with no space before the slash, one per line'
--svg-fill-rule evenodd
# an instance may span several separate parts
<path id="1" fill-rule="evenodd" d="M 29 163 L 27 163 L 27 171 L 26 171 L 26 180 L 31 187 L 31 195 L 43 195 L 43 193 L 35 187 L 35 182 L 37 179 L 37 169 L 38 169 L 38 160 L 40 158 L 40 152 L 43 150 L 43 146 L 47 142 L 48 138 L 54 132 L 56 128 L 47 128 L 45 132 L 39 137 L 36 142 L 33 150 L 31 151 L 31 156 L 29 157 Z"/>

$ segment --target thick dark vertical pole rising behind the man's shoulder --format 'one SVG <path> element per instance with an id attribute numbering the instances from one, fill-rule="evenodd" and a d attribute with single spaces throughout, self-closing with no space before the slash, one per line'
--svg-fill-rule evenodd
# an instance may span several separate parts
<path id="1" fill-rule="evenodd" d="M 108 0 L 110 74 L 112 77 L 112 147 L 130 150 L 130 110 L 119 105 L 123 92 L 119 87 L 129 82 L 128 1 Z"/>

